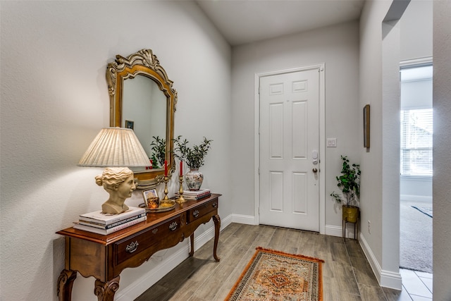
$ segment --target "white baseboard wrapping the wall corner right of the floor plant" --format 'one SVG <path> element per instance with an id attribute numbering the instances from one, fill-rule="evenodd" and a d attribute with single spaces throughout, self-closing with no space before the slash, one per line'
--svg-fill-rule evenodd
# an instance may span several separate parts
<path id="1" fill-rule="evenodd" d="M 394 290 L 401 290 L 402 278 L 399 271 L 395 273 L 393 271 L 384 271 L 383 269 L 381 269 L 381 265 L 377 261 L 376 256 L 374 256 L 373 252 L 371 251 L 368 243 L 364 238 L 364 235 L 359 235 L 359 242 L 360 245 L 362 246 L 362 250 L 364 251 L 366 259 L 368 259 L 371 269 L 373 269 L 373 273 L 376 275 L 379 285 L 381 285 L 384 288 L 393 288 Z"/>

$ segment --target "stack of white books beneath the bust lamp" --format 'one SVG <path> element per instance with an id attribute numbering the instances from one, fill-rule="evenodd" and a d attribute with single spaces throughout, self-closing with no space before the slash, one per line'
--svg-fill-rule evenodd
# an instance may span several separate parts
<path id="1" fill-rule="evenodd" d="M 119 231 L 147 219 L 146 209 L 129 207 L 121 214 L 102 214 L 101 210 L 80 214 L 73 228 L 102 235 Z"/>

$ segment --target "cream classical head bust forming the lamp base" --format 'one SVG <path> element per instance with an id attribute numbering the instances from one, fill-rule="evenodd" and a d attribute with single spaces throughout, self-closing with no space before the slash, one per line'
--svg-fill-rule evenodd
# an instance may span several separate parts
<path id="1" fill-rule="evenodd" d="M 104 173 L 96 177 L 96 183 L 110 194 L 101 205 L 104 214 L 120 214 L 128 210 L 125 199 L 132 196 L 136 189 L 133 172 L 128 167 L 107 167 Z"/>

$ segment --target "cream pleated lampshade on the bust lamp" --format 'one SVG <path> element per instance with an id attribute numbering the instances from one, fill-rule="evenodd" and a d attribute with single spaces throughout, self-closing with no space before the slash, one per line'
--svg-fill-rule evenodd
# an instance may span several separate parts
<path id="1" fill-rule="evenodd" d="M 78 162 L 78 166 L 150 166 L 150 161 L 132 129 L 102 128 Z"/>

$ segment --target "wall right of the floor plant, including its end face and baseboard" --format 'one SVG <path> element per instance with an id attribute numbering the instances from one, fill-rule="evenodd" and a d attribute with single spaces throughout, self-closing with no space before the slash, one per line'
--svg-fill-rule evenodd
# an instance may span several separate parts
<path id="1" fill-rule="evenodd" d="M 362 149 L 361 243 L 383 286 L 400 288 L 399 25 L 392 1 L 366 1 L 360 20 L 360 106 L 371 105 L 371 148 Z M 385 39 L 385 42 L 383 42 Z M 368 221 L 371 222 L 371 230 Z"/>

